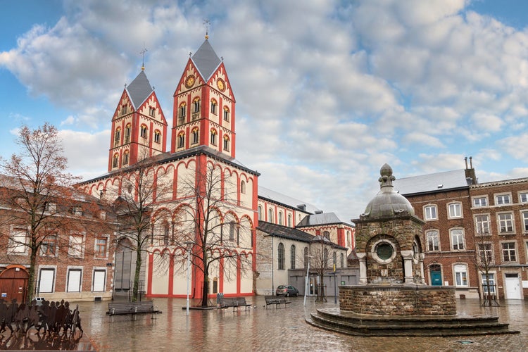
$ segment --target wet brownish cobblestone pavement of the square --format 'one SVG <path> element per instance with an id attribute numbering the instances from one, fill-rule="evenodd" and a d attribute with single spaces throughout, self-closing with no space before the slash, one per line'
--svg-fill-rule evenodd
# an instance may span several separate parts
<path id="1" fill-rule="evenodd" d="M 459 300 L 458 314 L 498 315 L 520 334 L 479 337 L 351 337 L 312 327 L 305 315 L 317 308 L 334 307 L 308 297 L 289 298 L 287 308 L 265 308 L 261 296 L 246 298 L 247 311 L 190 310 L 186 301 L 155 298 L 163 313 L 108 318 L 103 303 L 79 303 L 84 333 L 99 351 L 528 351 L 528 302 L 503 301 L 498 308 L 482 308 L 477 300 Z"/>

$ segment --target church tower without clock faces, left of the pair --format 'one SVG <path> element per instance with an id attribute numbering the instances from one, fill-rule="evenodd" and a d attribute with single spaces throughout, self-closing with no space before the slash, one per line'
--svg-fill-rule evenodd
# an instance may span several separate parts
<path id="1" fill-rule="evenodd" d="M 108 172 L 165 153 L 167 120 L 144 67 L 123 89 L 112 118 Z"/>

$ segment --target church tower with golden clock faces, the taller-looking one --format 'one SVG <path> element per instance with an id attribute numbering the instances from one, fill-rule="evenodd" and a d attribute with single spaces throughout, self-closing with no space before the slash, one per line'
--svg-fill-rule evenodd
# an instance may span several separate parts
<path id="1" fill-rule="evenodd" d="M 187 61 L 174 93 L 170 152 L 207 146 L 234 158 L 234 105 L 224 63 L 206 36 Z"/>

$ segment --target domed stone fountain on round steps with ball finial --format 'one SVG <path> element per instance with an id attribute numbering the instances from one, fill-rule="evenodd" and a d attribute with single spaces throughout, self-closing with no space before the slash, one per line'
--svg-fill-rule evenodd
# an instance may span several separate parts
<path id="1" fill-rule="evenodd" d="M 356 223 L 359 284 L 339 287 L 339 308 L 320 308 L 307 322 L 363 336 L 460 336 L 517 333 L 496 316 L 458 316 L 455 287 L 427 286 L 422 226 L 394 191 L 392 168 L 380 170 L 378 194 Z"/>

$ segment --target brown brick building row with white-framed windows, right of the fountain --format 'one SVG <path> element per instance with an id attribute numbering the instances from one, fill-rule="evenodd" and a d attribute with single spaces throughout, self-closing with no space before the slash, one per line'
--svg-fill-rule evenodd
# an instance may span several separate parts
<path id="1" fill-rule="evenodd" d="M 478 298 L 489 279 L 498 298 L 528 297 L 528 178 L 479 184 L 466 165 L 394 184 L 425 220 L 427 284 L 455 286 L 457 296 Z M 483 258 L 490 258 L 488 265 Z"/>

